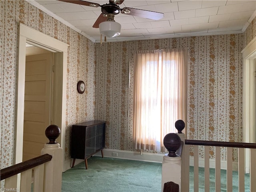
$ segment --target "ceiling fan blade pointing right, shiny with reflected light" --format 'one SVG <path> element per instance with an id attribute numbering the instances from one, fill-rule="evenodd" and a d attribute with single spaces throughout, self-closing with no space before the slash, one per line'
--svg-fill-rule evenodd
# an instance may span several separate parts
<path id="1" fill-rule="evenodd" d="M 135 8 L 129 8 L 129 7 L 122 8 L 121 13 L 126 15 L 147 18 L 147 19 L 154 19 L 154 20 L 159 20 L 164 18 L 164 14 L 160 12 L 147 11 L 147 10 L 135 9 Z"/>

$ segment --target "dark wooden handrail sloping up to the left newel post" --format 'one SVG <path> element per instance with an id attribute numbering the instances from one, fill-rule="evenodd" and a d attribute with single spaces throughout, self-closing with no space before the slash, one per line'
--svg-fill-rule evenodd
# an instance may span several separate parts
<path id="1" fill-rule="evenodd" d="M 0 178 L 1 178 L 1 180 L 4 180 L 8 177 L 14 176 L 23 171 L 26 171 L 26 170 L 36 167 L 40 164 L 48 162 L 51 159 L 52 159 L 51 155 L 44 154 L 44 155 L 32 158 L 30 160 L 15 164 L 13 166 L 6 167 L 6 168 L 0 170 Z"/>

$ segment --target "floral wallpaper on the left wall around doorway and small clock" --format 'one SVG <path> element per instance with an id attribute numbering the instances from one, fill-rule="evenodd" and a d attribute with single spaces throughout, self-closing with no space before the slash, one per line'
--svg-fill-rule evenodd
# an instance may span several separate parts
<path id="1" fill-rule="evenodd" d="M 14 160 L 18 23 L 69 44 L 67 68 L 65 160 L 70 159 L 72 124 L 94 119 L 94 43 L 27 1 L 1 1 L 0 126 L 1 168 Z M 84 94 L 76 84 L 83 80 Z"/>

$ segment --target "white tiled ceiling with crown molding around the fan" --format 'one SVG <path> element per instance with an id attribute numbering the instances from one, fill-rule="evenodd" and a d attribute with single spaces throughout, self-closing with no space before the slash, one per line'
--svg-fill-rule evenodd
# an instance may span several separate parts
<path id="1" fill-rule="evenodd" d="M 100 5 L 108 0 L 89 0 Z M 54 18 L 100 42 L 98 28 L 92 28 L 101 14 L 94 8 L 58 0 L 29 0 Z M 256 16 L 256 0 L 124 0 L 120 8 L 130 7 L 164 13 L 160 20 L 117 14 L 122 25 L 120 36 L 107 41 L 144 40 L 242 33 Z"/>

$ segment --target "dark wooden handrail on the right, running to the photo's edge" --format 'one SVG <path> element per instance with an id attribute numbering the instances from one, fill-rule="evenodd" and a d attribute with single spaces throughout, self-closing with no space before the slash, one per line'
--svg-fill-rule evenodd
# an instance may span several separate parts
<path id="1" fill-rule="evenodd" d="M 256 143 L 238 143 L 223 141 L 202 141 L 202 140 L 185 140 L 186 145 L 201 146 L 219 146 L 219 147 L 237 147 L 237 148 L 256 148 Z"/>

